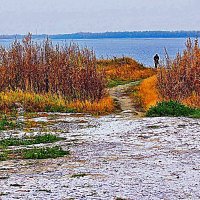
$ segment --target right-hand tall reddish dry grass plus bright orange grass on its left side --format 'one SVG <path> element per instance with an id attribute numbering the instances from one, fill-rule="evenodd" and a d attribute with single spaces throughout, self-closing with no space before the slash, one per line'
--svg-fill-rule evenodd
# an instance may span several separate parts
<path id="1" fill-rule="evenodd" d="M 183 55 L 174 60 L 167 56 L 164 67 L 157 76 L 147 78 L 139 87 L 141 105 L 144 109 L 159 101 L 178 101 L 192 108 L 200 108 L 200 48 L 187 40 Z"/>

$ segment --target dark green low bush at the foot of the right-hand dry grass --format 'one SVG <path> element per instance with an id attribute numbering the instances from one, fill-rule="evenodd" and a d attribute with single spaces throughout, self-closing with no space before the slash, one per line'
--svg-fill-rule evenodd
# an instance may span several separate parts
<path id="1" fill-rule="evenodd" d="M 156 106 L 151 107 L 147 113 L 147 117 L 195 117 L 200 118 L 200 109 L 187 107 L 177 101 L 163 101 Z"/>

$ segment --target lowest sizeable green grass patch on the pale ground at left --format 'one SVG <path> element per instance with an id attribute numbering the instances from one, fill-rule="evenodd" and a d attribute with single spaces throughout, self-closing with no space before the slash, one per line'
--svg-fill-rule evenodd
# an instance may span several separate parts
<path id="1" fill-rule="evenodd" d="M 33 149 L 23 149 L 21 152 L 24 159 L 46 159 L 57 158 L 69 155 L 69 151 L 64 151 L 61 147 L 43 147 Z"/>

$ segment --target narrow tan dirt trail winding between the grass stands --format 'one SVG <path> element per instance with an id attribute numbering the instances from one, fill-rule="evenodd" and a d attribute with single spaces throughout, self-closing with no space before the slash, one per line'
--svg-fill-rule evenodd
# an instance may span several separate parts
<path id="1" fill-rule="evenodd" d="M 128 93 L 130 87 L 138 85 L 139 82 L 140 81 L 136 81 L 125 85 L 118 85 L 116 87 L 109 89 L 110 96 L 119 103 L 122 113 L 130 113 L 133 115 L 139 114 L 138 112 L 136 112 L 133 101 Z"/>

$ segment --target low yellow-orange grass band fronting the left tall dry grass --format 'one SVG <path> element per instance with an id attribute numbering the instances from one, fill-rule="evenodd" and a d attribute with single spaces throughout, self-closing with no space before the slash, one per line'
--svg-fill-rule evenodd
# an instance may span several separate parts
<path id="1" fill-rule="evenodd" d="M 52 111 L 85 112 L 91 114 L 108 114 L 114 111 L 114 102 L 110 97 L 99 101 L 67 101 L 61 96 L 51 94 L 36 94 L 33 92 L 8 91 L 0 93 L 0 109 L 11 112 L 16 104 L 21 104 L 26 111 L 40 112 L 51 108 Z"/>

